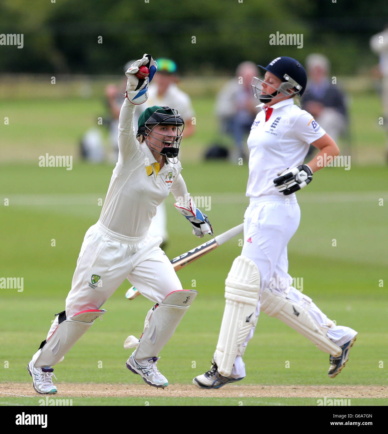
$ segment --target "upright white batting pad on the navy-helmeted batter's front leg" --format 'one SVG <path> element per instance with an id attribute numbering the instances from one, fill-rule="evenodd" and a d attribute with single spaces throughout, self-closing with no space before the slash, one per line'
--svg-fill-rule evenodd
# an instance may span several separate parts
<path id="1" fill-rule="evenodd" d="M 232 372 L 237 355 L 243 355 L 241 345 L 256 325 L 259 296 L 259 269 L 245 256 L 237 256 L 225 280 L 225 310 L 214 353 L 218 372 L 225 377 Z"/>

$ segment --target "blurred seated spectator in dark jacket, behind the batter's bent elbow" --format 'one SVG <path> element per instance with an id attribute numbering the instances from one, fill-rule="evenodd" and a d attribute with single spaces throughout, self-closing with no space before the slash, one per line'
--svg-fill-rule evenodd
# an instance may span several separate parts
<path id="1" fill-rule="evenodd" d="M 302 97 L 302 107 L 337 141 L 348 131 L 348 111 L 345 96 L 329 79 L 330 62 L 322 54 L 306 58 L 308 82 Z"/>

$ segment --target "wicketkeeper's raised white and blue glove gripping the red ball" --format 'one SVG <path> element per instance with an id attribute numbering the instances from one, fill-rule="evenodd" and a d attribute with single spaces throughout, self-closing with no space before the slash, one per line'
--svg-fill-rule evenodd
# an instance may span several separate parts
<path id="1" fill-rule="evenodd" d="M 148 77 L 144 79 L 139 79 L 136 77 L 136 73 L 139 71 L 140 66 L 147 66 L 150 73 Z M 129 99 L 132 104 L 143 104 L 143 102 L 148 99 L 148 84 L 154 78 L 155 72 L 158 69 L 158 64 L 152 59 L 150 54 L 144 54 L 141 59 L 133 62 L 131 67 L 128 68 L 125 75 L 128 78 L 126 97 Z"/>

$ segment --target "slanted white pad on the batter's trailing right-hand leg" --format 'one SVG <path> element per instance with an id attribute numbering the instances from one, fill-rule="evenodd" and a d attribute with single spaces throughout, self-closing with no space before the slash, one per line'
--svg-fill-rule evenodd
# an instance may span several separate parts
<path id="1" fill-rule="evenodd" d="M 303 295 L 300 302 L 296 303 L 287 299 L 288 291 L 286 289 L 280 295 L 271 292 L 269 289 L 264 289 L 260 297 L 260 311 L 280 319 L 280 321 L 309 339 L 320 350 L 339 356 L 342 353 L 341 348 L 326 336 L 327 330 L 334 323 L 328 319 L 325 326 L 319 327 L 309 314 L 312 299 Z M 305 307 L 303 307 L 304 303 L 306 303 Z"/>

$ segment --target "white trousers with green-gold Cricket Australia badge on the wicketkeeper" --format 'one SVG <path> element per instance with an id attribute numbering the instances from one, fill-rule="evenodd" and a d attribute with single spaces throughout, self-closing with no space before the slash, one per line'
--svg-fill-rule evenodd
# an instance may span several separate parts
<path id="1" fill-rule="evenodd" d="M 85 233 L 66 298 L 66 317 L 88 309 L 100 309 L 126 278 L 141 295 L 160 303 L 172 291 L 182 289 L 168 257 L 160 249 L 161 238 L 124 237 L 99 221 Z M 58 316 L 47 340 L 58 326 Z"/>

